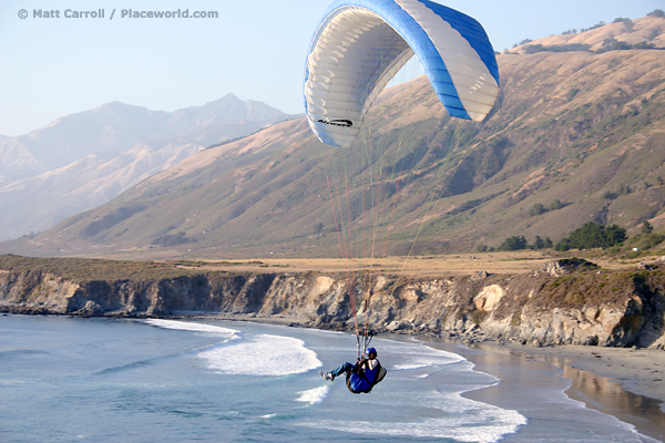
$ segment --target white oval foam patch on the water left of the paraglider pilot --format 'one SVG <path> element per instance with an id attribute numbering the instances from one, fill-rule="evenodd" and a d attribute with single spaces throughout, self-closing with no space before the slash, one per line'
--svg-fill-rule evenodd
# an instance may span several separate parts
<path id="1" fill-rule="evenodd" d="M 238 344 L 218 347 L 197 354 L 208 368 L 239 375 L 287 375 L 304 373 L 323 364 L 303 340 L 258 336 Z"/>

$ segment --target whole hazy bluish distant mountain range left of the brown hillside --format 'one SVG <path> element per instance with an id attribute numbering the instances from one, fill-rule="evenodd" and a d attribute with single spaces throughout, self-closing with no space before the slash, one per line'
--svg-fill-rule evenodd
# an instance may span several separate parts
<path id="1" fill-rule="evenodd" d="M 0 140 L 0 238 L 102 205 L 205 147 L 289 116 L 228 94 L 173 113 L 113 102 Z"/>

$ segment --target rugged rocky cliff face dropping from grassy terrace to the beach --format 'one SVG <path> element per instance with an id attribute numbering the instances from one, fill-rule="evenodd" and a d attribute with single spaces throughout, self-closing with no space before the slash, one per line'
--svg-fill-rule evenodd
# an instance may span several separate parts
<path id="1" fill-rule="evenodd" d="M 584 265 L 560 260 L 529 275 L 427 281 L 379 277 L 372 284 L 370 324 L 378 332 L 467 341 L 665 349 L 665 271 L 606 272 Z M 351 330 L 348 287 L 340 275 L 212 272 L 152 281 L 76 282 L 47 271 L 0 270 L 0 311 L 83 317 L 244 315 Z M 366 313 L 366 306 L 358 306 L 362 322 Z"/>

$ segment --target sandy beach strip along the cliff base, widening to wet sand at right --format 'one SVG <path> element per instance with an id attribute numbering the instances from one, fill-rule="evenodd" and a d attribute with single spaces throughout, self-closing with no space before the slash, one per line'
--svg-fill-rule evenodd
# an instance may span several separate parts
<path id="1" fill-rule="evenodd" d="M 165 318 L 162 316 L 151 317 Z M 304 324 L 303 318 L 287 316 L 259 317 L 225 313 L 185 315 L 168 318 L 248 321 L 318 329 Z M 665 442 L 665 383 L 662 382 L 663 375 L 665 375 L 665 352 L 662 350 L 592 346 L 535 348 L 516 343 L 499 344 L 491 341 L 466 343 L 446 337 L 407 333 L 380 333 L 377 337 L 396 341 L 415 340 L 462 356 L 479 371 L 497 377 L 501 381 L 494 387 L 467 392 L 463 394 L 464 396 L 518 410 L 521 413 L 525 411 L 520 411 L 519 406 L 511 404 L 505 398 L 512 399 L 513 403 L 519 402 L 520 395 L 515 395 L 511 388 L 518 389 L 518 392 L 530 392 L 529 390 L 533 390 L 534 385 L 528 385 L 524 389 L 523 380 L 511 371 L 507 371 L 507 368 L 523 371 L 524 367 L 533 367 L 533 372 L 542 372 L 542 367 L 546 367 L 548 369 L 544 371 L 549 374 L 541 375 L 541 379 L 559 375 L 562 380 L 567 380 L 569 387 L 561 389 L 561 392 L 569 399 L 584 403 L 586 409 L 598 411 L 634 426 L 636 432 L 649 437 L 648 442 Z M 541 368 L 535 369 L 538 364 Z M 526 399 L 526 401 L 529 400 Z M 505 441 L 510 442 L 510 439 Z"/>

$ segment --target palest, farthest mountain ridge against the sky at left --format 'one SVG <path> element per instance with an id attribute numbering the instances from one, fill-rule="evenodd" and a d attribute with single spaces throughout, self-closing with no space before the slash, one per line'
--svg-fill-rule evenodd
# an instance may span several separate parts
<path id="1" fill-rule="evenodd" d="M 174 138 L 218 124 L 280 117 L 284 113 L 278 110 L 259 102 L 243 102 L 233 94 L 172 113 L 113 102 L 0 142 L 0 171 L 34 175 L 89 154 L 120 153 L 143 141 Z"/>

